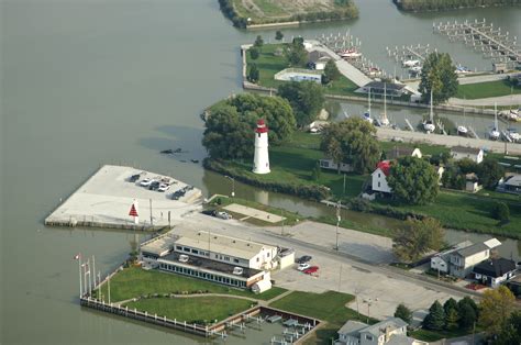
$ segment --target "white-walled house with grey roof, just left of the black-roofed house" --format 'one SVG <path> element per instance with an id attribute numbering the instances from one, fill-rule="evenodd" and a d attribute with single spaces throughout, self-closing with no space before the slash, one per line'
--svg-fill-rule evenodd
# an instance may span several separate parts
<path id="1" fill-rule="evenodd" d="M 448 272 L 458 278 L 467 277 L 474 266 L 490 257 L 490 247 L 485 243 L 454 251 L 450 254 Z"/>

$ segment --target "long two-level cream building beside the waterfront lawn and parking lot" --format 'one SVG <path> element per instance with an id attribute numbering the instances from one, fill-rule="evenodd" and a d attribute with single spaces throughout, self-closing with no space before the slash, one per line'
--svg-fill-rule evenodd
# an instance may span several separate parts
<path id="1" fill-rule="evenodd" d="M 292 265 L 295 252 L 178 225 L 176 233 L 143 243 L 140 259 L 145 269 L 265 291 L 271 287 L 269 270 Z"/>

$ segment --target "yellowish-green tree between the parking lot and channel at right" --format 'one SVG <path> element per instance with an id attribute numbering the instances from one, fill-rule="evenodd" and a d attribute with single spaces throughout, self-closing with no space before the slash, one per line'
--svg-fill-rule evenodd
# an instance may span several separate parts
<path id="1" fill-rule="evenodd" d="M 429 251 L 443 245 L 444 230 L 433 218 L 408 219 L 404 226 L 392 232 L 392 252 L 404 261 L 414 261 Z"/>

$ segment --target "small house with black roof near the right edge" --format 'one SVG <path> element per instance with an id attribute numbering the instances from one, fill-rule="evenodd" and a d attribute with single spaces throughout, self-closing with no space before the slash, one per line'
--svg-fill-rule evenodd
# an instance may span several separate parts
<path id="1" fill-rule="evenodd" d="M 476 280 L 492 288 L 512 278 L 516 275 L 516 263 L 502 257 L 479 263 L 473 269 Z"/>

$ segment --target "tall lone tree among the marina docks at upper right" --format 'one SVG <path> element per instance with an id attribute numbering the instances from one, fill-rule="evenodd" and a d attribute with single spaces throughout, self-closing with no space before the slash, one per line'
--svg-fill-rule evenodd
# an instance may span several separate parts
<path id="1" fill-rule="evenodd" d="M 446 53 L 431 53 L 425 58 L 418 89 L 424 102 L 430 101 L 431 89 L 435 104 L 456 94 L 458 81 L 455 69 L 451 56 Z"/>

